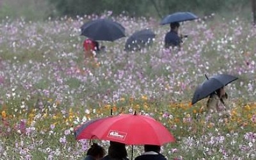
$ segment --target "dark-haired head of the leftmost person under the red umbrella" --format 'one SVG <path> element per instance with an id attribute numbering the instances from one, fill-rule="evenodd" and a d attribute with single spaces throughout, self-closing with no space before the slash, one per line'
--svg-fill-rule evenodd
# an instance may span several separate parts
<path id="1" fill-rule="evenodd" d="M 105 149 L 99 146 L 97 143 L 93 143 L 86 153 L 87 156 L 92 156 L 94 159 L 101 159 L 105 156 L 105 154 Z"/>

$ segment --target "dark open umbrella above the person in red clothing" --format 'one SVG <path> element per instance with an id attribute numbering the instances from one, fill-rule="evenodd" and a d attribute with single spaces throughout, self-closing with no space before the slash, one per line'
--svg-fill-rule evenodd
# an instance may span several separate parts
<path id="1" fill-rule="evenodd" d="M 81 35 L 93 40 L 115 41 L 125 36 L 125 28 L 118 22 L 108 19 L 97 19 L 81 26 Z"/>

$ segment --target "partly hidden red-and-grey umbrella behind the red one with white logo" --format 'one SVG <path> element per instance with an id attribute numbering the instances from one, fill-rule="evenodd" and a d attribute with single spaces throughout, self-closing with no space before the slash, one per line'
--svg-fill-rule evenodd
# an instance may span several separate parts
<path id="1" fill-rule="evenodd" d="M 84 124 L 81 124 L 76 127 L 75 129 L 75 137 L 76 140 L 82 140 L 82 139 L 97 139 L 93 134 L 93 129 L 97 128 L 99 124 L 108 118 L 111 118 L 111 116 L 106 118 L 97 118 L 94 120 L 88 120 Z"/>

